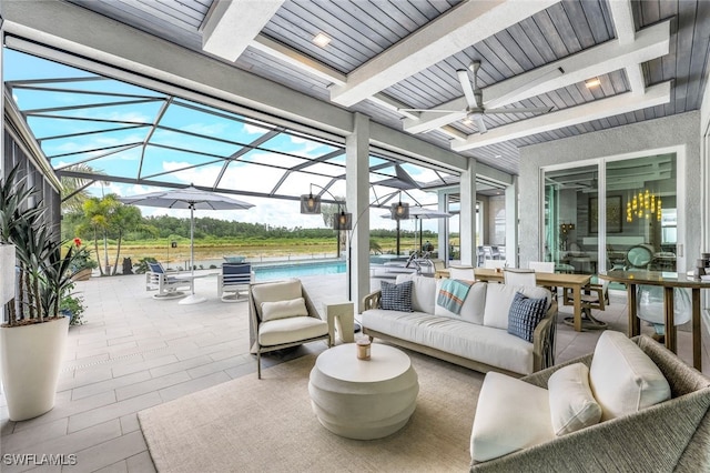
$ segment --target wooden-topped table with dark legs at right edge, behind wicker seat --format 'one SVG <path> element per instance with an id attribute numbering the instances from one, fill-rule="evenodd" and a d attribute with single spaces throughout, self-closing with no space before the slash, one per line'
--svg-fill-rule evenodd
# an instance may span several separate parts
<path id="1" fill-rule="evenodd" d="M 694 280 L 692 276 L 661 271 L 607 271 L 599 273 L 599 278 L 626 284 L 629 305 L 629 336 L 641 333 L 641 322 L 636 313 L 637 286 L 660 285 L 663 288 L 663 314 L 666 325 L 666 348 L 673 353 L 678 351 L 678 331 L 673 321 L 673 289 L 688 288 L 691 290 L 692 303 L 692 365 L 702 370 L 701 333 L 700 333 L 700 290 L 710 289 L 710 281 Z"/>

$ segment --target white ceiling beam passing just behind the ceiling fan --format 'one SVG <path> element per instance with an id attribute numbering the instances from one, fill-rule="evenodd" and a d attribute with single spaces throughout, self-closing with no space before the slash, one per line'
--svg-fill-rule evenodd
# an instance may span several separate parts
<path id="1" fill-rule="evenodd" d="M 499 108 L 508 105 L 585 81 L 592 77 L 627 69 L 629 64 L 641 64 L 651 59 L 668 54 L 669 44 L 670 21 L 665 21 L 639 31 L 636 40 L 631 43 L 619 44 L 617 40 L 611 40 L 568 58 L 560 59 L 559 61 L 550 62 L 532 71 L 489 85 L 483 89 L 484 107 Z M 560 68 L 565 71 L 564 73 L 559 72 Z M 638 89 L 633 90 L 637 91 Z M 640 91 L 642 92 L 643 89 L 640 89 Z M 436 109 L 463 111 L 466 109 L 466 99 L 459 97 L 435 107 L 435 110 Z M 460 120 L 464 115 L 464 112 L 423 112 L 418 119 L 405 119 L 404 130 L 409 133 L 422 133 Z"/>

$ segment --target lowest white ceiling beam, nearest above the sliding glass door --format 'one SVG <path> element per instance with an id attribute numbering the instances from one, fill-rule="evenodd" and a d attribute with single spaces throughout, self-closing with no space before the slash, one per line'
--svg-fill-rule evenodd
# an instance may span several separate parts
<path id="1" fill-rule="evenodd" d="M 471 134 L 464 142 L 452 142 L 454 151 L 466 151 L 474 148 L 501 143 L 530 134 L 544 133 L 564 127 L 571 127 L 605 117 L 612 117 L 636 110 L 656 107 L 670 101 L 670 81 L 649 87 L 643 94 L 622 93 L 607 99 L 595 100 L 584 105 L 570 107 L 558 112 L 548 113 L 529 120 L 488 130 L 486 134 Z"/>

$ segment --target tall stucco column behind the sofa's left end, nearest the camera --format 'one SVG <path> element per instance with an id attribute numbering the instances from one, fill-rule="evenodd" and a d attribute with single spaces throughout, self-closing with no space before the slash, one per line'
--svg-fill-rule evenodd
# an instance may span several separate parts
<path id="1" fill-rule="evenodd" d="M 369 293 L 369 117 L 353 115 L 353 133 L 345 138 L 347 210 L 353 213 L 348 239 L 349 300 L 357 312 Z"/>

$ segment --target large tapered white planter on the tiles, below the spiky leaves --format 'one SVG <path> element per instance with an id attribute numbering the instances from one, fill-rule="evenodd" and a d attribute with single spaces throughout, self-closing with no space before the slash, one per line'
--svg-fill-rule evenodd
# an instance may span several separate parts
<path id="1" fill-rule="evenodd" d="M 0 328 L 2 385 L 11 421 L 37 417 L 54 406 L 69 318 Z"/>

